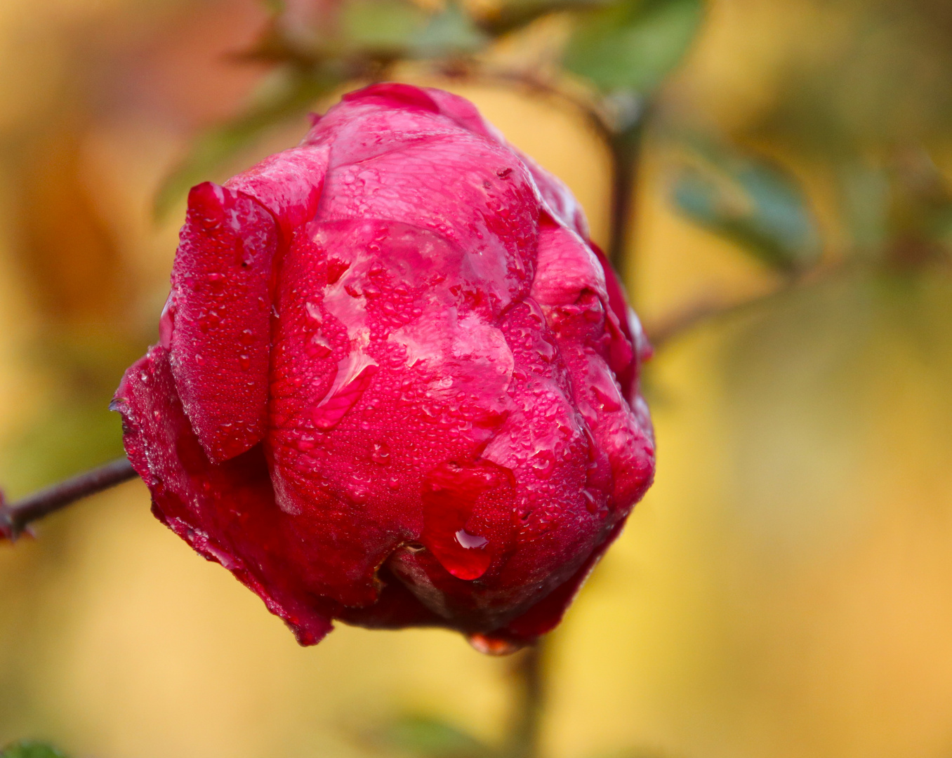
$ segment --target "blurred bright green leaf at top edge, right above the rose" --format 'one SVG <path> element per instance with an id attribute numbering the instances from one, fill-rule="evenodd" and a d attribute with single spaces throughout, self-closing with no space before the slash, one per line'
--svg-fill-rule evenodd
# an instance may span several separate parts
<path id="1" fill-rule="evenodd" d="M 565 69 L 608 93 L 649 94 L 684 58 L 703 16 L 703 0 L 618 0 L 583 16 Z"/>

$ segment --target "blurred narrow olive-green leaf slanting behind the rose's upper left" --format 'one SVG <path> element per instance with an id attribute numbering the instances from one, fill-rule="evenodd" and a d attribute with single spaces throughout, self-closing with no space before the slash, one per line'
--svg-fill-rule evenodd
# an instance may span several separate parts
<path id="1" fill-rule="evenodd" d="M 185 160 L 158 190 L 154 207 L 157 218 L 163 218 L 192 186 L 212 178 L 228 159 L 248 148 L 265 131 L 303 115 L 341 82 L 339 74 L 327 70 L 293 68 L 282 74 L 266 83 L 248 111 L 195 141 Z"/>

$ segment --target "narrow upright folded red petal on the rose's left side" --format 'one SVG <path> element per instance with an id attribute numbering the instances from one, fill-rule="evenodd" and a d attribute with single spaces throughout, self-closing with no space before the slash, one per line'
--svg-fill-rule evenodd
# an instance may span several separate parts
<path id="1" fill-rule="evenodd" d="M 248 195 L 210 182 L 191 190 L 163 344 L 188 418 L 214 461 L 265 435 L 276 249 L 274 219 Z"/>

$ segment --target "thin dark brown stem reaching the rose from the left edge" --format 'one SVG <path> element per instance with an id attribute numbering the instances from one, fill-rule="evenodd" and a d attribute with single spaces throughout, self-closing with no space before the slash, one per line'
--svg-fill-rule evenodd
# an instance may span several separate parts
<path id="1" fill-rule="evenodd" d="M 0 494 L 0 539 L 16 540 L 30 523 L 136 475 L 126 458 L 117 458 L 7 505 Z"/>

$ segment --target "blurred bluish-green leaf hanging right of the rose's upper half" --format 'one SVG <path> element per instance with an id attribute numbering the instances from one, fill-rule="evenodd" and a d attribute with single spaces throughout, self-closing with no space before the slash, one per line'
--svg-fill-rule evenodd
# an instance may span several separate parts
<path id="1" fill-rule="evenodd" d="M 684 215 L 768 266 L 803 269 L 820 255 L 816 220 L 797 180 L 772 163 L 705 150 L 674 187 Z"/>

